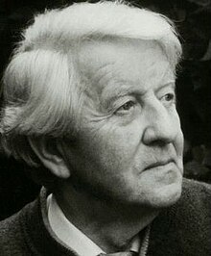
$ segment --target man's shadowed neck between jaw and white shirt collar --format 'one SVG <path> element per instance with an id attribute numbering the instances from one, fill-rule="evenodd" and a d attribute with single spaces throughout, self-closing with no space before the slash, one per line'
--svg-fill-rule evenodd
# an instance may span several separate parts
<path id="1" fill-rule="evenodd" d="M 56 194 L 65 217 L 107 253 L 123 250 L 158 215 L 157 210 L 108 202 L 62 186 Z"/>

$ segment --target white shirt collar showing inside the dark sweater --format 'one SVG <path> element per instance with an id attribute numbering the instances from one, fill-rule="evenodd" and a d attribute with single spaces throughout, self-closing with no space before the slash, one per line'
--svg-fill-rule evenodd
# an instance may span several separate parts
<path id="1" fill-rule="evenodd" d="M 100 253 L 105 253 L 65 218 L 53 194 L 50 194 L 47 198 L 47 207 L 50 226 L 61 242 L 75 250 L 80 256 L 97 256 Z M 136 236 L 132 240 L 129 249 L 138 252 L 139 248 L 140 239 Z"/>

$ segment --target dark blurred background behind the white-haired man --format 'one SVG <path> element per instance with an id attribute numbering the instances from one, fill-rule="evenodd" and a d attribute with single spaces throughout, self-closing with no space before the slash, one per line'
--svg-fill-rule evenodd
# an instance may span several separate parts
<path id="1" fill-rule="evenodd" d="M 183 46 L 176 92 L 185 138 L 184 175 L 211 183 L 211 0 L 129 2 L 163 13 L 176 24 Z M 69 0 L 0 0 L 0 77 L 21 30 L 33 22 L 35 13 L 70 4 Z M 1 102 L 2 97 L 0 107 Z M 38 194 L 40 187 L 30 179 L 29 168 L 0 152 L 0 219 L 11 216 Z"/>

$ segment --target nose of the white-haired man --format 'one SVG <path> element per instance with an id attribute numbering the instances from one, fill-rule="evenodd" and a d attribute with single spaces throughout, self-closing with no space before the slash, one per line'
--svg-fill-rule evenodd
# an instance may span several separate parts
<path id="1" fill-rule="evenodd" d="M 145 144 L 167 144 L 176 140 L 180 129 L 176 110 L 170 111 L 159 103 L 148 109 L 145 120 L 146 126 L 142 138 Z"/>

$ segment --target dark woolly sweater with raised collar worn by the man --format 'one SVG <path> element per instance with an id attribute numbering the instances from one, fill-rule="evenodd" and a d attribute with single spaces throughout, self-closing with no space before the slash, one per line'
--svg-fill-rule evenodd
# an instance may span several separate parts
<path id="1" fill-rule="evenodd" d="M 60 243 L 47 218 L 46 190 L 35 202 L 0 222 L 0 255 L 77 254 Z M 178 202 L 153 220 L 147 255 L 211 255 L 211 186 L 184 180 Z"/>

